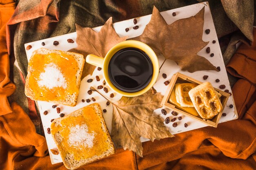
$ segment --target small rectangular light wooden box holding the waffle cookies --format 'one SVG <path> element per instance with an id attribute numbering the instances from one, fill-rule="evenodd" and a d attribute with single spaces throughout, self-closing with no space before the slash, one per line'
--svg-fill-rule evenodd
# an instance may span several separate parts
<path id="1" fill-rule="evenodd" d="M 161 106 L 164 106 L 166 108 L 169 108 L 171 110 L 174 110 L 175 112 L 181 113 L 183 115 L 186 115 L 188 117 L 191 117 L 195 120 L 201 121 L 204 124 L 207 124 L 209 126 L 213 126 L 213 127 L 217 127 L 218 122 L 220 120 L 220 117 L 222 115 L 222 112 L 220 112 L 218 115 L 214 116 L 212 119 L 203 119 L 200 116 L 194 116 L 191 115 L 190 113 L 186 113 L 185 111 L 182 111 L 179 109 L 179 106 L 175 106 L 174 104 L 172 104 L 171 102 L 169 102 L 169 97 L 171 95 L 171 92 L 173 91 L 173 88 L 175 86 L 175 84 L 177 83 L 196 83 L 196 84 L 202 84 L 202 82 L 193 79 L 189 76 L 186 76 L 182 73 L 175 73 L 173 75 L 173 77 L 171 78 L 171 82 L 166 90 L 166 95 L 164 95 L 164 98 L 162 100 Z M 229 93 L 226 93 L 224 91 L 219 90 L 218 88 L 214 88 L 216 91 L 218 91 L 221 94 L 220 97 L 220 101 L 221 104 L 223 106 L 223 108 L 225 108 L 226 104 L 227 104 L 227 100 L 229 98 Z"/>

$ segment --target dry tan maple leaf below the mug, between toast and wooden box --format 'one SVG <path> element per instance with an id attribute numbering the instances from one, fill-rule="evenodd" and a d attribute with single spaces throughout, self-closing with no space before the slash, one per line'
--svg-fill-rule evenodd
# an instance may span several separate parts
<path id="1" fill-rule="evenodd" d="M 97 91 L 93 87 L 90 89 Z M 137 97 L 123 96 L 119 101 L 112 103 L 111 137 L 117 147 L 132 150 L 142 157 L 140 137 L 146 137 L 151 141 L 173 137 L 164 125 L 164 120 L 153 114 L 153 111 L 160 107 L 162 99 L 160 93 L 153 95 L 148 91 Z"/>

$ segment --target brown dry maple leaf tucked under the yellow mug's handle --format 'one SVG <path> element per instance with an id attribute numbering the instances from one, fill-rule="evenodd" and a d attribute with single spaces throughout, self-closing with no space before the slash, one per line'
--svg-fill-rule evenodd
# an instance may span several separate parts
<path id="1" fill-rule="evenodd" d="M 112 48 L 112 46 L 118 44 L 119 42 L 125 41 L 127 38 L 120 38 L 119 35 L 117 35 L 115 29 L 113 28 L 112 17 L 110 17 L 102 26 L 99 33 L 94 31 L 92 28 L 83 28 L 76 24 L 76 34 L 77 47 L 69 51 L 81 53 L 85 58 L 88 54 L 105 57 L 106 53 Z M 95 66 L 85 62 L 81 79 L 89 74 L 92 75 L 94 69 Z"/>

